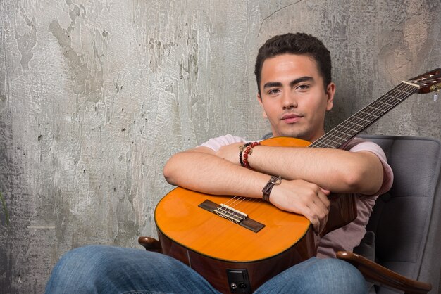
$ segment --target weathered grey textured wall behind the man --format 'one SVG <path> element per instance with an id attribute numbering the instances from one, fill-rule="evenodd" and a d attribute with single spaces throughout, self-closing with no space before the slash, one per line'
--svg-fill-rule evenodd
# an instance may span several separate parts
<path id="1" fill-rule="evenodd" d="M 259 138 L 254 58 L 284 32 L 333 56 L 344 120 L 441 67 L 439 0 L 0 1 L 0 293 L 41 293 L 89 243 L 156 235 L 166 160 L 212 136 Z M 441 139 L 440 102 L 412 96 L 368 133 Z"/>

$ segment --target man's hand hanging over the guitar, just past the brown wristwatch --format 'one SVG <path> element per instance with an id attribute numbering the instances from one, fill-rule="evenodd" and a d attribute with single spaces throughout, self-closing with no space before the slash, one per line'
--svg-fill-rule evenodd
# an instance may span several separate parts
<path id="1" fill-rule="evenodd" d="M 320 233 L 328 222 L 330 191 L 304 180 L 282 180 L 271 191 L 270 202 L 281 210 L 304 215 Z"/>

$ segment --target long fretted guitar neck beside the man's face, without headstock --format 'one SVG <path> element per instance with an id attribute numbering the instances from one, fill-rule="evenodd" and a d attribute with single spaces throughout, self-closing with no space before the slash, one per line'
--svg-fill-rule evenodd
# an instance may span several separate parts
<path id="1" fill-rule="evenodd" d="M 417 84 L 401 82 L 397 87 L 388 91 L 386 94 L 370 103 L 368 106 L 359 110 L 330 132 L 321 136 L 309 147 L 312 148 L 340 148 L 344 143 L 354 138 L 356 134 L 369 127 L 373 122 L 395 108 L 412 94 L 418 91 Z"/>

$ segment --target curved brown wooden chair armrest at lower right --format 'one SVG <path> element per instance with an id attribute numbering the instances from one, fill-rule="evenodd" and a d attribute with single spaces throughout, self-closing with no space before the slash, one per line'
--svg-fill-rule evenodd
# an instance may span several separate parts
<path id="1" fill-rule="evenodd" d="M 402 290 L 404 293 L 428 293 L 432 289 L 430 283 L 406 278 L 356 253 L 339 251 L 337 258 L 354 265 L 367 281 L 380 286 Z"/>

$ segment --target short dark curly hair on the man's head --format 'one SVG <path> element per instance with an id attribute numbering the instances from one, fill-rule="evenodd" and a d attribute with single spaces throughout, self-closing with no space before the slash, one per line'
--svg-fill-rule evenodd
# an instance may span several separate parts
<path id="1" fill-rule="evenodd" d="M 272 58 L 281 54 L 290 53 L 298 55 L 308 55 L 316 60 L 318 71 L 323 77 L 323 84 L 328 87 L 331 82 L 331 58 L 330 52 L 323 45 L 322 41 L 310 34 L 305 33 L 287 33 L 268 39 L 268 41 L 261 46 L 257 53 L 256 66 L 254 74 L 256 75 L 257 90 L 261 95 L 260 83 L 263 61 L 267 58 Z"/>

